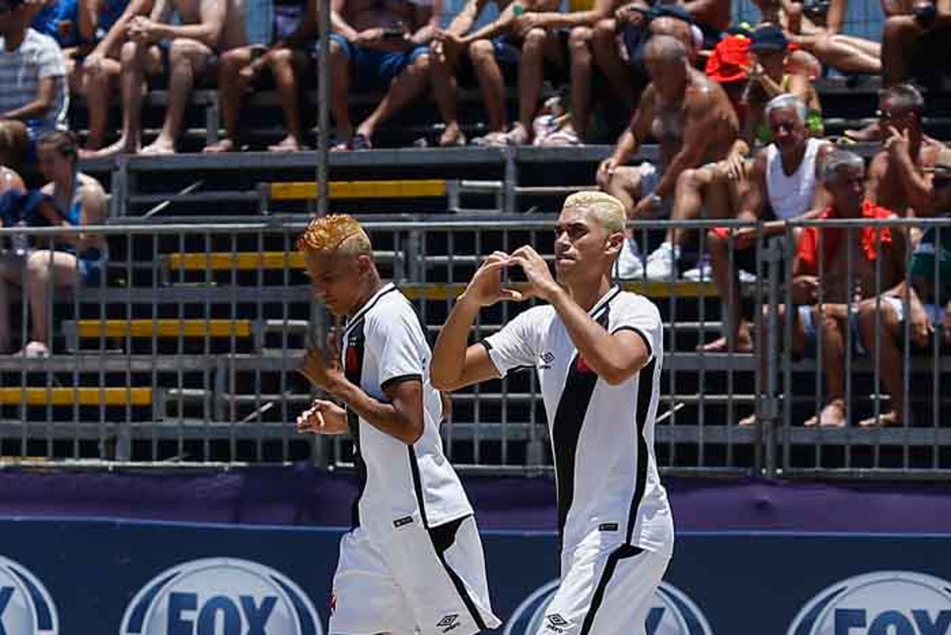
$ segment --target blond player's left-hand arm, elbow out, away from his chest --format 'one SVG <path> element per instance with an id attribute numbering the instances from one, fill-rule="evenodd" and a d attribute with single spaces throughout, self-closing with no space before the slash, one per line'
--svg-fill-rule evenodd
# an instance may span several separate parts
<path id="1" fill-rule="evenodd" d="M 440 391 L 455 391 L 487 379 L 498 377 L 498 370 L 481 344 L 468 346 L 469 332 L 483 306 L 500 299 L 519 299 L 521 295 L 502 286 L 502 270 L 510 256 L 496 251 L 476 271 L 476 275 L 449 314 L 439 331 L 433 349 L 430 380 Z"/>

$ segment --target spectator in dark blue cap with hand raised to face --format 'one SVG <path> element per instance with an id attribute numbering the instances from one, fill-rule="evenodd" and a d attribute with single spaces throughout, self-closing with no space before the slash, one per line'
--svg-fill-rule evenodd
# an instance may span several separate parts
<path id="1" fill-rule="evenodd" d="M 789 93 L 798 97 L 806 106 L 805 125 L 813 137 L 822 137 L 824 131 L 823 110 L 819 93 L 802 70 L 790 69 L 789 42 L 783 29 L 764 25 L 754 30 L 749 43 L 749 79 L 743 93 L 746 106 L 744 138 L 768 145 L 771 141 L 765 108 L 769 100 Z M 794 71 L 795 70 L 795 71 Z"/>

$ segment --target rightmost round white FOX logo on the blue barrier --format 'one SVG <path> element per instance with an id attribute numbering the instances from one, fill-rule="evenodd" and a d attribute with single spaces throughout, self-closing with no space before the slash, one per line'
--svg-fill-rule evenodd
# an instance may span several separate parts
<path id="1" fill-rule="evenodd" d="M 826 587 L 787 635 L 947 635 L 951 582 L 913 571 L 876 571 Z"/>

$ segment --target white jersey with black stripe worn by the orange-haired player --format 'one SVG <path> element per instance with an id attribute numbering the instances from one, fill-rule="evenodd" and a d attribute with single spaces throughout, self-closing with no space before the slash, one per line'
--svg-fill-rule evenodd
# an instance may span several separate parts
<path id="1" fill-rule="evenodd" d="M 386 400 L 384 387 L 417 377 L 423 390 L 423 433 L 408 446 L 348 411 L 360 478 L 354 526 L 393 529 L 416 519 L 438 527 L 473 512 L 456 471 L 442 452 L 442 402 L 429 378 L 432 358 L 409 300 L 386 284 L 348 322 L 340 355 L 363 392 Z"/>

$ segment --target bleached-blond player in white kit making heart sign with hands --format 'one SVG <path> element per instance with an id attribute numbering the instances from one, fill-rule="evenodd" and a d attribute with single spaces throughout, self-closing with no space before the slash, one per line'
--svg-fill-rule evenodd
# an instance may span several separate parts
<path id="1" fill-rule="evenodd" d="M 663 335 L 657 308 L 611 284 L 626 215 L 601 192 L 569 197 L 555 269 L 531 247 L 495 252 L 439 333 L 433 383 L 456 390 L 534 366 L 551 429 L 561 586 L 539 635 L 636 635 L 670 562 L 673 522 L 653 452 Z M 506 289 L 521 267 L 527 290 Z M 466 346 L 483 306 L 539 298 L 494 336 Z"/>

